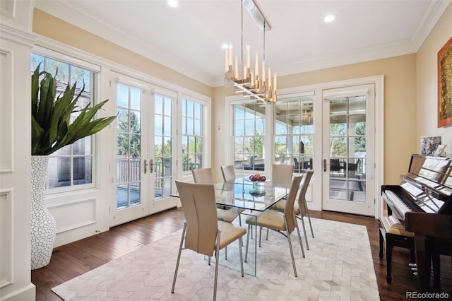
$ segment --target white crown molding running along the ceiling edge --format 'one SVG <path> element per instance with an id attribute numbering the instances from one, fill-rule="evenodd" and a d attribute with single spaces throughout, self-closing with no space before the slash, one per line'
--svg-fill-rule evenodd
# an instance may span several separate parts
<path id="1" fill-rule="evenodd" d="M 273 66 L 273 71 L 278 73 L 278 76 L 285 76 L 295 73 L 327 69 L 347 64 L 356 64 L 364 61 L 386 59 L 388 57 L 398 57 L 400 55 L 416 53 L 451 2 L 452 0 L 429 1 L 424 15 L 422 16 L 422 19 L 417 25 L 415 33 L 412 35 L 410 40 L 396 42 L 389 45 L 367 47 L 359 49 L 355 52 L 337 54 L 334 57 L 320 57 L 307 61 L 296 61 L 285 66 Z M 133 39 L 130 35 L 117 30 L 117 28 L 111 28 L 109 25 L 97 20 L 95 16 L 87 15 L 76 6 L 71 6 L 64 1 L 36 1 L 35 8 L 49 13 L 50 15 L 60 18 L 68 23 L 76 25 L 89 33 L 93 33 L 94 35 L 109 40 L 114 44 L 129 49 L 131 52 L 135 52 L 143 57 L 151 59 L 158 64 L 162 64 L 169 69 L 194 78 L 196 81 L 200 81 L 210 87 L 224 85 L 224 78 L 222 76 L 210 76 L 207 73 L 194 68 L 193 66 L 185 64 L 183 61 L 174 59 L 174 57 L 170 57 L 160 49 L 157 49 L 152 45 L 146 45 L 138 39 Z"/>

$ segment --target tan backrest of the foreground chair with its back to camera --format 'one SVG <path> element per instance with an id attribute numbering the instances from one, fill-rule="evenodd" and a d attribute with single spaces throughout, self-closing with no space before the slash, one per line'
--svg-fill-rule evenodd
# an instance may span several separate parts
<path id="1" fill-rule="evenodd" d="M 186 219 L 185 248 L 213 256 L 218 220 L 213 184 L 176 181 Z"/>

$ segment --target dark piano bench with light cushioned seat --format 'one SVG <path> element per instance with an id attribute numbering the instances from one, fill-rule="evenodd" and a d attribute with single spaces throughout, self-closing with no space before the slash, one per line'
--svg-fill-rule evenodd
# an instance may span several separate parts
<path id="1" fill-rule="evenodd" d="M 410 249 L 410 263 L 415 262 L 415 238 L 413 232 L 405 231 L 402 224 L 393 224 L 389 222 L 386 216 L 380 220 L 380 259 L 383 259 L 383 240 L 386 242 L 386 281 L 391 283 L 391 259 L 393 247 L 403 247 Z"/>

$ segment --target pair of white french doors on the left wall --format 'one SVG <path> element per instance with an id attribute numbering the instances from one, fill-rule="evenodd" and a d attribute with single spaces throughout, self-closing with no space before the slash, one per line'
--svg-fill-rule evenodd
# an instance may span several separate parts
<path id="1" fill-rule="evenodd" d="M 167 93 L 170 94 L 170 93 Z M 172 194 L 174 95 L 116 78 L 116 201 L 111 225 L 176 206 Z"/>

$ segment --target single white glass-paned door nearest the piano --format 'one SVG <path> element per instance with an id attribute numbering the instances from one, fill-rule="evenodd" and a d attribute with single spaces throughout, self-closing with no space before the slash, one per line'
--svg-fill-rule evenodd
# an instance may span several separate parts
<path id="1" fill-rule="evenodd" d="M 324 210 L 374 216 L 374 85 L 322 91 Z"/>

